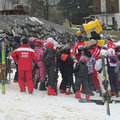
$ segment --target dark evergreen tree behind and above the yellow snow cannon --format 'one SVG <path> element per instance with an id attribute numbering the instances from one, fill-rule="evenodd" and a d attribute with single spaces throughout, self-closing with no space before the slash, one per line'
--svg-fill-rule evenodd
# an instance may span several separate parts
<path id="1" fill-rule="evenodd" d="M 89 9 L 93 0 L 60 0 L 58 7 L 62 10 L 63 14 L 67 16 L 71 27 L 73 24 L 82 24 L 86 17 L 91 13 L 92 9 Z"/>

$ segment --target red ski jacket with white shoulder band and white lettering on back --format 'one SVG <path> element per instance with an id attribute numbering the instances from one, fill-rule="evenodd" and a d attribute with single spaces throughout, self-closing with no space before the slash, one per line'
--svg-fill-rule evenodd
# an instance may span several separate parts
<path id="1" fill-rule="evenodd" d="M 28 45 L 17 48 L 12 52 L 11 56 L 15 62 L 18 61 L 18 70 L 32 70 L 32 59 L 35 64 L 38 63 L 34 50 Z M 18 59 L 16 56 L 18 56 Z"/>

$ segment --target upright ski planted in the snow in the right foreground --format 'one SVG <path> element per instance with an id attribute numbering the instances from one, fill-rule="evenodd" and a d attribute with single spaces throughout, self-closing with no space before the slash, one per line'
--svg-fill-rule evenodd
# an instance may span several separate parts
<path id="1" fill-rule="evenodd" d="M 105 56 L 101 56 L 102 59 L 102 70 L 103 70 L 103 86 L 105 89 L 105 94 L 103 95 L 103 101 L 106 103 L 107 114 L 110 115 L 109 103 L 111 101 L 111 96 L 108 94 L 108 80 L 106 79 L 106 70 L 105 70 Z"/>

